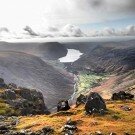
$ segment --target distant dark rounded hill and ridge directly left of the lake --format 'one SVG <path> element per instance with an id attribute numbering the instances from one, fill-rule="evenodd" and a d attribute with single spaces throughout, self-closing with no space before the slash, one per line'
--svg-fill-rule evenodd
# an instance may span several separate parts
<path id="1" fill-rule="evenodd" d="M 67 48 L 58 42 L 46 43 L 8 43 L 0 42 L 0 51 L 24 52 L 44 60 L 57 60 L 66 56 Z"/>

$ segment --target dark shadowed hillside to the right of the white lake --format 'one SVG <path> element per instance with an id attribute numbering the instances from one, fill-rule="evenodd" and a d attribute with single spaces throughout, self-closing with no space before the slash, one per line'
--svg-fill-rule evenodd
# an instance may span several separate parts
<path id="1" fill-rule="evenodd" d="M 69 48 L 84 53 L 77 61 L 65 63 L 69 70 L 122 73 L 135 68 L 135 41 L 74 43 Z"/>

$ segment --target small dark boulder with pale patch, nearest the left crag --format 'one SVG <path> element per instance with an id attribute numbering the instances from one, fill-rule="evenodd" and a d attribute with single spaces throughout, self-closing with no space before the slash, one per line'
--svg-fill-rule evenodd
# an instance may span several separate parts
<path id="1" fill-rule="evenodd" d="M 57 104 L 57 112 L 59 112 L 59 111 L 67 111 L 69 109 L 70 109 L 70 106 L 69 106 L 67 100 L 62 100 Z"/>

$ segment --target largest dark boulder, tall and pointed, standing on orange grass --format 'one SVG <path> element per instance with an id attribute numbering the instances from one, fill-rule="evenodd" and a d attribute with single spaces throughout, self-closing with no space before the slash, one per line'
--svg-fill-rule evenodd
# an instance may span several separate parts
<path id="1" fill-rule="evenodd" d="M 103 98 L 96 92 L 91 92 L 85 104 L 85 111 L 88 114 L 99 113 L 104 114 L 106 104 Z"/>

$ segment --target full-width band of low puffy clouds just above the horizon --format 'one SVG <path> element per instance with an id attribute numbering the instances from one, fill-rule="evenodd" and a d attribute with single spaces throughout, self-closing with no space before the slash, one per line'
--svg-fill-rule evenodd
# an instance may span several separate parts
<path id="1" fill-rule="evenodd" d="M 101 36 L 135 36 L 135 25 L 129 25 L 121 29 L 103 28 L 90 30 L 85 34 L 78 26 L 67 24 L 64 27 L 48 27 L 44 30 L 35 30 L 26 26 L 19 33 L 6 27 L 0 28 L 0 39 L 31 39 L 47 37 L 101 37 Z"/>

